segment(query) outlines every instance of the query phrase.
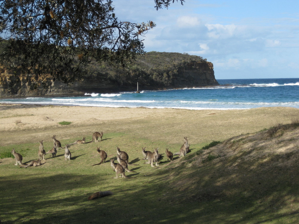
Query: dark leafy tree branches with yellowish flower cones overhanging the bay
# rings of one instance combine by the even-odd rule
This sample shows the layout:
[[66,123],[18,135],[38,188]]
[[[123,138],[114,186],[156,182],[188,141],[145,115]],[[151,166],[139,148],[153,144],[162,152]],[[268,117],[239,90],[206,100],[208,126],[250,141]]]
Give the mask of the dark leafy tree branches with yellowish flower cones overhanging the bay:
[[[184,2],[154,1],[157,10]],[[119,21],[112,0],[1,0],[0,65],[45,88],[49,76],[71,83],[93,62],[127,67],[155,26]]]

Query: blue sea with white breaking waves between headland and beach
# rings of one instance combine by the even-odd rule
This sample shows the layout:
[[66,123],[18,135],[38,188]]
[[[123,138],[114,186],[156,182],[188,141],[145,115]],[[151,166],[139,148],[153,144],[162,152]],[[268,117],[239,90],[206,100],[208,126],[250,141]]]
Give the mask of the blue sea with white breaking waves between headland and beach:
[[[202,109],[299,108],[299,78],[217,79],[219,86],[141,91],[85,93],[80,97],[0,99],[1,103]],[[142,88],[142,87],[141,87]]]

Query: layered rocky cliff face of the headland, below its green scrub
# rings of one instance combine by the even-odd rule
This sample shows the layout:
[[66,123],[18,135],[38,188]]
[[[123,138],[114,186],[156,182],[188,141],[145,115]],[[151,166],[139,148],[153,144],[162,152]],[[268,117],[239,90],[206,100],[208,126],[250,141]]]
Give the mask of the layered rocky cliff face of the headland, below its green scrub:
[[[159,53],[159,55],[162,56],[165,56],[165,54],[169,57],[172,53]],[[163,59],[165,59],[165,57]],[[169,58],[166,59],[166,61],[169,61]],[[143,62],[150,68],[144,68],[142,71],[140,71],[141,60],[139,60],[138,63],[135,65],[135,70],[136,67],[139,69],[137,75],[134,67],[132,67],[132,70],[126,75],[118,74],[113,77],[104,71],[100,75],[95,75],[94,73],[93,75],[87,74],[84,80],[74,82],[71,85],[66,85],[60,81],[53,81],[51,77],[47,77],[47,82],[51,83],[48,89],[44,89],[37,85],[38,81],[28,81],[28,77],[26,76],[2,69],[0,70],[0,97],[68,96],[83,95],[84,93],[92,92],[111,93],[118,91],[135,91],[137,81],[139,82],[139,90],[219,85],[214,76],[213,64],[205,60],[189,60],[188,62],[184,61],[184,63],[180,61],[176,64],[173,63],[173,67],[167,65],[167,68],[162,69],[161,65],[159,65],[160,67],[156,70],[155,65],[158,63],[153,62],[150,64],[148,62]],[[166,62],[163,63],[164,66]],[[114,73],[118,72],[119,71]],[[121,82],[120,77],[123,79]],[[131,80],[128,81],[128,79]],[[158,82],[157,80],[160,80],[161,82]]]

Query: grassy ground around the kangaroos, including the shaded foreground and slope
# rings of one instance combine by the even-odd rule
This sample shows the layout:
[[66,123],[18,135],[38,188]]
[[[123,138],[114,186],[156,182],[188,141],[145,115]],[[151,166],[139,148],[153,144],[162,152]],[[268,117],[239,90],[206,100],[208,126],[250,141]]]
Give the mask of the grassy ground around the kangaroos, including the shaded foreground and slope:
[[[252,117],[248,114],[254,112],[256,114],[256,111],[240,111],[243,120],[233,114],[226,120],[219,118],[222,123],[216,122],[215,115],[215,124],[210,122],[205,134],[201,127],[209,125],[202,122],[204,116],[196,120],[194,111],[181,115],[186,122],[181,126],[174,126],[180,123],[174,114],[161,115],[161,119],[101,121],[101,127],[109,125],[103,141],[71,146],[70,161],[65,161],[61,149],[57,157],[47,154],[39,167],[19,168],[13,165],[13,158],[0,159],[1,222],[298,223],[298,155],[296,150],[279,153],[279,147],[274,152],[274,146],[298,149],[299,130],[269,137],[266,131],[257,131],[268,129],[271,121],[249,125]],[[291,115],[296,114],[298,111]],[[159,116],[155,114],[156,118]],[[242,122],[236,123],[236,120]],[[44,140],[46,151],[52,148],[53,134],[63,146],[83,136],[86,141],[91,140],[92,132],[86,135],[82,131],[88,129],[87,125],[79,127],[70,121],[72,124],[63,127],[24,131],[21,141],[1,146],[0,154],[15,148],[27,163],[37,158],[38,140]],[[282,123],[287,121],[290,121],[289,116],[281,119]],[[275,123],[276,120],[272,121],[272,125]],[[94,130],[98,125],[89,128]],[[39,139],[33,139],[34,132]],[[254,132],[257,134],[251,134]],[[60,133],[64,134],[63,138]],[[240,136],[197,153],[213,140],[222,142],[237,135]],[[252,139],[255,135],[259,137]],[[150,151],[158,147],[159,153],[164,153],[165,148],[177,152],[184,143],[184,136],[188,136],[191,149],[186,157],[175,156],[173,162],[167,162],[164,154],[159,166],[144,164],[142,147]],[[248,145],[259,138],[263,142]],[[271,144],[272,149],[267,149]],[[115,172],[109,159],[116,158],[117,146],[128,153],[129,162],[138,164],[129,166],[136,173],[126,173],[136,179],[113,179]],[[108,157],[105,163],[91,166],[100,162],[97,147],[106,151]],[[292,161],[291,165],[286,165],[288,161]],[[113,195],[88,200],[88,196],[97,191],[112,191]]]

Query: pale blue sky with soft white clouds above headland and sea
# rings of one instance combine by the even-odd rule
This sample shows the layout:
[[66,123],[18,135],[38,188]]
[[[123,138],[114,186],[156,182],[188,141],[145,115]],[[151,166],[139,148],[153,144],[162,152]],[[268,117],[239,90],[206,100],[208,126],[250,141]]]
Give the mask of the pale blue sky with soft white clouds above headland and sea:
[[122,22],[153,21],[145,51],[201,56],[216,79],[299,78],[298,0],[114,0]]

